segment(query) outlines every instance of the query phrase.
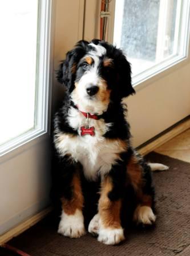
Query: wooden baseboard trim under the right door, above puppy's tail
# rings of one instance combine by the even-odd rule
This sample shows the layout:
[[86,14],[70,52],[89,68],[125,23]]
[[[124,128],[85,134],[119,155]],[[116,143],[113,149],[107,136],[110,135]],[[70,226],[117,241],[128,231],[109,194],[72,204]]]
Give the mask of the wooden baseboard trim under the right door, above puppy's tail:
[[142,155],[146,155],[189,128],[190,119],[188,118],[177,124],[175,127],[171,127],[171,129],[166,130],[160,136],[156,136],[156,138],[151,142],[147,142],[147,145],[138,147],[138,152]]

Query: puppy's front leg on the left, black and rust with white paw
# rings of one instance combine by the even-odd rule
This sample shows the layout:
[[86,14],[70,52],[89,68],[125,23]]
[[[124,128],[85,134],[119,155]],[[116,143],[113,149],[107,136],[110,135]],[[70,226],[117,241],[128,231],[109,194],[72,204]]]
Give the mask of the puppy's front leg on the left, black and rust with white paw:
[[69,158],[59,163],[59,186],[61,186],[62,214],[58,233],[70,238],[85,234],[82,214],[83,195],[78,166]]

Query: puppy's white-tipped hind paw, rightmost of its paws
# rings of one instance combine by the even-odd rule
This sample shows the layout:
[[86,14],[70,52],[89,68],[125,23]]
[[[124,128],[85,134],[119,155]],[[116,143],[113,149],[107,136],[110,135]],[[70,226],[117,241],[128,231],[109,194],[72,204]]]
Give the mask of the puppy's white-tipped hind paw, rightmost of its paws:
[[151,225],[156,221],[156,216],[153,214],[151,207],[138,206],[134,213],[134,221],[144,225]]

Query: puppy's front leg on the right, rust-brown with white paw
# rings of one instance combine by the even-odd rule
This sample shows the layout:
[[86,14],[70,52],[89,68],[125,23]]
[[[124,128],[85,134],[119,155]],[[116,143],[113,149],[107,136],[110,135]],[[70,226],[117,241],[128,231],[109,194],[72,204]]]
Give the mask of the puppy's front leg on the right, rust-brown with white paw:
[[[118,184],[119,185],[119,184]],[[122,184],[120,184],[122,186]],[[110,175],[102,181],[99,199],[98,241],[106,245],[115,245],[124,239],[120,221],[122,198],[118,186],[114,187],[114,179]]]

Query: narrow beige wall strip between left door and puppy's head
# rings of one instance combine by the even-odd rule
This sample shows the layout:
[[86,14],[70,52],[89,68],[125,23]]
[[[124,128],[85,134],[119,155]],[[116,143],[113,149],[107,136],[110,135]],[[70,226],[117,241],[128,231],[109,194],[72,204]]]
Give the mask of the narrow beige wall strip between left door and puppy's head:
[[[84,0],[56,0],[54,70],[65,59],[67,51],[83,37]],[[53,110],[62,99],[63,87],[56,82],[54,73]]]

